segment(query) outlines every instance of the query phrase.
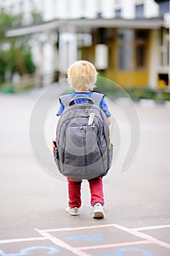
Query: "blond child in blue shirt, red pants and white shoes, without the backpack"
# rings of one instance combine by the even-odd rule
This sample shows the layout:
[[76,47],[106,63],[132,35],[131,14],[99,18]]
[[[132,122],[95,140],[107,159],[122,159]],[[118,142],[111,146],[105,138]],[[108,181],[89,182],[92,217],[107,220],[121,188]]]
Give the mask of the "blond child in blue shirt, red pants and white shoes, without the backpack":
[[[93,94],[93,88],[97,80],[96,68],[88,61],[76,61],[69,67],[68,70],[68,81],[74,92],[72,97],[77,94],[85,94],[90,97]],[[76,99],[77,103],[84,103],[87,99],[79,98]],[[104,110],[108,118],[108,123],[111,123],[111,115],[107,107],[107,103],[104,98],[101,99],[100,107]],[[61,103],[58,110],[57,116],[61,116],[64,106]],[[66,207],[66,212],[70,215],[79,215],[79,208],[81,206],[81,183],[82,181],[74,180],[73,178],[67,178],[68,189],[69,189],[69,206]],[[90,195],[91,195],[91,206],[93,206],[93,218],[102,219],[104,218],[104,192],[103,192],[103,181],[102,177],[89,180]]]

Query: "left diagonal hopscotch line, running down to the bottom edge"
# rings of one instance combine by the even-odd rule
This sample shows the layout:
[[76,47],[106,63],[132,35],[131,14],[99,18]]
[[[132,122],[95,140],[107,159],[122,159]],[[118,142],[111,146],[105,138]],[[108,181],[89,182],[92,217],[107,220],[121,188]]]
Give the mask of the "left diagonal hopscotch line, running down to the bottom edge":
[[69,244],[66,244],[62,240],[56,238],[55,236],[50,235],[49,233],[46,233],[45,231],[38,230],[36,228],[34,230],[36,230],[41,236],[44,236],[46,239],[49,239],[53,244],[55,244],[59,247],[62,247],[64,249],[74,253],[75,255],[78,255],[78,256],[92,256],[92,255],[89,255],[86,252],[82,252],[80,249],[77,249],[76,247],[72,247]]

